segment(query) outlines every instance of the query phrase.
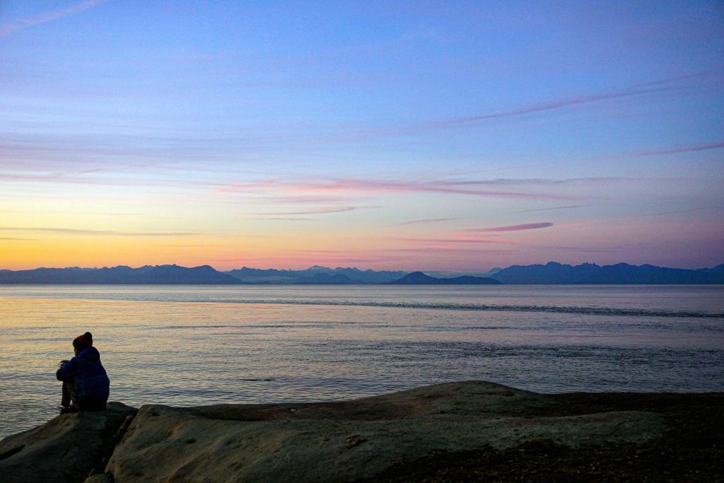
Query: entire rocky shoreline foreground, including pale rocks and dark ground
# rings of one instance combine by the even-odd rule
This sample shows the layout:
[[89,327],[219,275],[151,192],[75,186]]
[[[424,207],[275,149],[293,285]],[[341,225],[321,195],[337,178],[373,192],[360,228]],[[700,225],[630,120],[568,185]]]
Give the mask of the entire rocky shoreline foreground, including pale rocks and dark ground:
[[724,393],[489,382],[334,403],[110,403],[0,441],[0,481],[724,481]]

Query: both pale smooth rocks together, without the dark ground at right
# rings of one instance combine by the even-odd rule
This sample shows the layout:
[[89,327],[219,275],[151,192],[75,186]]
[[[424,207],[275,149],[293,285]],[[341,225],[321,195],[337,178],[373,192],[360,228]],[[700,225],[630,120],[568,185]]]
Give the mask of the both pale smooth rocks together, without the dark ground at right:
[[566,413],[554,395],[479,381],[334,403],[110,403],[0,441],[0,481],[352,482],[434,455],[635,446],[668,428],[660,413],[613,409]]

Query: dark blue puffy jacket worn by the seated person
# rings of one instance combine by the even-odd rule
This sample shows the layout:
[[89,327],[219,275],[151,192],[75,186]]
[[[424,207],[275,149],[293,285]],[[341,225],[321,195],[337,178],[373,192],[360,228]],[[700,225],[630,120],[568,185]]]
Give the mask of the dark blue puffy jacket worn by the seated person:
[[75,382],[78,397],[85,400],[107,400],[111,381],[101,364],[98,349],[83,349],[55,373],[59,381]]

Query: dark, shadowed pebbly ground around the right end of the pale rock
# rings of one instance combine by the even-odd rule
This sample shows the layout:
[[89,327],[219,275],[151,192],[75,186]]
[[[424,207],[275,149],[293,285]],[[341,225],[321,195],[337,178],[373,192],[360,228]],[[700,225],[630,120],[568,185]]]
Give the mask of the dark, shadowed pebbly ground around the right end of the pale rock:
[[572,392],[556,405],[519,416],[651,411],[665,417],[662,437],[640,445],[565,448],[526,442],[515,448],[430,455],[393,466],[371,482],[724,482],[724,392]]

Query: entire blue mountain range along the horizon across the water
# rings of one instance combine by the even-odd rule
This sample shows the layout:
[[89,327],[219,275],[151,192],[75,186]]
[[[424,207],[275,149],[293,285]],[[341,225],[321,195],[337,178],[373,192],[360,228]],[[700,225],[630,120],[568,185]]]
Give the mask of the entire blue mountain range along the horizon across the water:
[[724,284],[724,264],[709,269],[670,269],[653,265],[596,264],[513,265],[494,269],[487,277],[431,277],[422,272],[389,272],[356,268],[305,270],[242,269],[219,272],[209,265],[113,266],[101,269],[0,269],[0,284],[51,285],[703,285]]

